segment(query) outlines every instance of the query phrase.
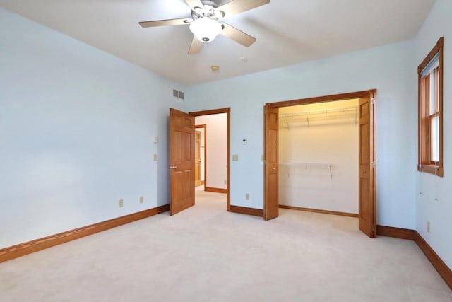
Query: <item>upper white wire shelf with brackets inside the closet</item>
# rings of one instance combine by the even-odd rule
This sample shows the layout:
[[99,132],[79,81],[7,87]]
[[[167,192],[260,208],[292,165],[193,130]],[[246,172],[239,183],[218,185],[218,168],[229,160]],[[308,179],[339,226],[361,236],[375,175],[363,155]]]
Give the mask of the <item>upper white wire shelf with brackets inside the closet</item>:
[[358,122],[358,106],[336,108],[336,109],[323,109],[323,110],[311,110],[304,112],[282,113],[279,115],[281,120],[285,120],[287,129],[290,129],[289,122],[296,120],[304,120],[310,127],[310,121],[315,119],[324,119],[332,117],[353,116],[355,117],[355,124]]

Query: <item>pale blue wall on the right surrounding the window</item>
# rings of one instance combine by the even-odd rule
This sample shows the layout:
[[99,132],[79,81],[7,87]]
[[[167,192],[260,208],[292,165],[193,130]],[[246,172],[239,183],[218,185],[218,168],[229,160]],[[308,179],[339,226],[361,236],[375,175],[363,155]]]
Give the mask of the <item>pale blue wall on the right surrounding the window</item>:
[[[444,178],[427,173],[417,173],[416,187],[416,230],[432,246],[435,252],[452,269],[452,1],[437,0],[427,20],[422,25],[415,41],[415,62],[417,65],[439,40],[444,37]],[[417,86],[417,79],[413,79]],[[417,105],[417,100],[412,100]],[[415,152],[415,150],[413,150]],[[411,165],[416,166],[417,161]],[[427,221],[430,233],[427,233]]]

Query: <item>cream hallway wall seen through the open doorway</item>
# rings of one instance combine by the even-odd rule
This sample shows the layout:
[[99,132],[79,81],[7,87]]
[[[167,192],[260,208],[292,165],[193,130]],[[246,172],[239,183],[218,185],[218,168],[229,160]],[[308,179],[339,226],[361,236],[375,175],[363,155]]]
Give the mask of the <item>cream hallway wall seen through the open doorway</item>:
[[195,124],[206,124],[206,187],[226,189],[227,185],[227,114],[202,115]]

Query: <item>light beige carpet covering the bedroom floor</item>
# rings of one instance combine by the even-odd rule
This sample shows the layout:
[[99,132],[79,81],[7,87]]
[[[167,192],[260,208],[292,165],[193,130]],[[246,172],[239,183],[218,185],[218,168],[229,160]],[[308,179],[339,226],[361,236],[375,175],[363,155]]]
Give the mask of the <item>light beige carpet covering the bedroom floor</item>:
[[226,211],[225,194],[0,263],[0,301],[437,301],[452,291],[410,240],[357,219]]

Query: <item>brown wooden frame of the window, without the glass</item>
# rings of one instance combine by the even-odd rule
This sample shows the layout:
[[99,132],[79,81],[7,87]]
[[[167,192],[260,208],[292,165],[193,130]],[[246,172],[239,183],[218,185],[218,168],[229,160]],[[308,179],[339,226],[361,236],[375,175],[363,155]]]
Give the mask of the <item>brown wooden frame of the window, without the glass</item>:
[[[417,86],[418,86],[418,162],[417,170],[420,172],[434,174],[439,177],[444,176],[443,168],[443,48],[444,37],[439,38],[433,49],[427,54],[427,57],[417,67]],[[429,89],[422,89],[422,81],[426,82],[427,76],[422,78],[422,70],[434,59],[436,54],[439,55],[439,72],[438,81],[438,108],[433,114],[429,114],[429,102],[427,95]],[[439,161],[432,161],[432,118],[439,117]]]

